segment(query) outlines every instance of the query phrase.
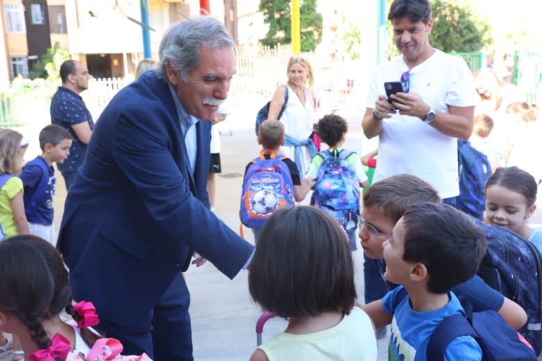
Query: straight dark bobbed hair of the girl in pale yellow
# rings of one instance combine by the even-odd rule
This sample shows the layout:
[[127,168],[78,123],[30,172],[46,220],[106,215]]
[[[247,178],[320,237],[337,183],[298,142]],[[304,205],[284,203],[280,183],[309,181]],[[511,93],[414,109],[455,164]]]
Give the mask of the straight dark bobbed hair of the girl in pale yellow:
[[356,287],[343,228],[314,207],[274,212],[256,246],[249,292],[263,309],[279,317],[350,313]]

